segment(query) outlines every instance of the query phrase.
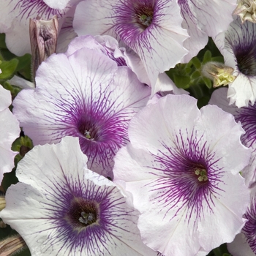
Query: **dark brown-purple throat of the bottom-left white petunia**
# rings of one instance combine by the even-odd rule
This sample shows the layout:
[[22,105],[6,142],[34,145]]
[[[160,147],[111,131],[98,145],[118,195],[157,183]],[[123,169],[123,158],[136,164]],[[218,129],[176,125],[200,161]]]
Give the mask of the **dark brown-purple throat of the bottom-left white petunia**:
[[99,207],[96,203],[75,197],[67,214],[67,221],[74,229],[81,229],[98,221]]

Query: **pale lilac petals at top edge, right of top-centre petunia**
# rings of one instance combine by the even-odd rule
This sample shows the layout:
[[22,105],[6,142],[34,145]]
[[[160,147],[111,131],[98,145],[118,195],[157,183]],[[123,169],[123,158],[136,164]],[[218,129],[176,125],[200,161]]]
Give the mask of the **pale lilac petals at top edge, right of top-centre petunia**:
[[227,29],[233,20],[236,0],[178,0],[178,4],[184,19],[182,27],[189,34],[184,42],[184,48],[189,52],[182,62],[189,62],[206,46],[208,37],[216,37]]

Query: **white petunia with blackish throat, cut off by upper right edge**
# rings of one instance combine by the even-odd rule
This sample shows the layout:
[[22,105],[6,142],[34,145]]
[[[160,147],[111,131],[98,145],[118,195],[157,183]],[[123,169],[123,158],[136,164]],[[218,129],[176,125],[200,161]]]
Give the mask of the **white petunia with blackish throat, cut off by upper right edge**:
[[225,33],[220,33],[214,42],[224,56],[225,65],[234,69],[236,80],[230,83],[227,98],[238,108],[254,105],[256,99],[256,24],[241,23],[236,18]]

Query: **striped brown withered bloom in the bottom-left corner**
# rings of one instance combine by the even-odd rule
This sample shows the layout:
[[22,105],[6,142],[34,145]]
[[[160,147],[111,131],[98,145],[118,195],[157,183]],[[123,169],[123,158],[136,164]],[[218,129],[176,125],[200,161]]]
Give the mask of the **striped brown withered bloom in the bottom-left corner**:
[[0,255],[9,256],[26,248],[26,243],[20,235],[0,241]]

